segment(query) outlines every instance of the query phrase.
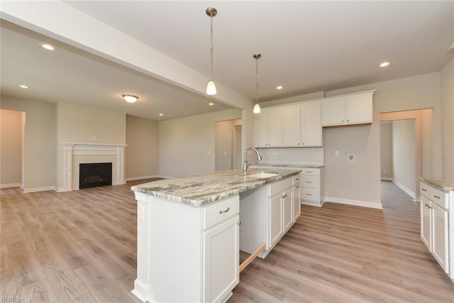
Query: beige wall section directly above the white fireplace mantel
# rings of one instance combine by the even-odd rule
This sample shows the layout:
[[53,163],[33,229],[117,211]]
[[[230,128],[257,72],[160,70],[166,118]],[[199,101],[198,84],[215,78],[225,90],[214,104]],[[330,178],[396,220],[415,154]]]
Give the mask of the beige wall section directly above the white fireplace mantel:
[[59,103],[57,130],[58,143],[126,144],[126,114]]

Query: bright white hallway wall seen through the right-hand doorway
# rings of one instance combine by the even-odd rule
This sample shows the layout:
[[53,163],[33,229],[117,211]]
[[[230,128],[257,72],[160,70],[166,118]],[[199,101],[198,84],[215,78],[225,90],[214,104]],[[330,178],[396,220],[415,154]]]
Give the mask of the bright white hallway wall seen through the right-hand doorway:
[[392,121],[392,167],[394,182],[416,197],[415,120]]

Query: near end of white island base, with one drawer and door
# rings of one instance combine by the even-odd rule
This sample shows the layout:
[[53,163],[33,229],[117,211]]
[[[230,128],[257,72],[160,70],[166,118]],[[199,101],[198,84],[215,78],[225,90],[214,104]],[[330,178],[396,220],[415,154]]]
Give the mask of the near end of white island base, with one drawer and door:
[[136,297],[225,302],[239,281],[239,197],[194,207],[135,192]]

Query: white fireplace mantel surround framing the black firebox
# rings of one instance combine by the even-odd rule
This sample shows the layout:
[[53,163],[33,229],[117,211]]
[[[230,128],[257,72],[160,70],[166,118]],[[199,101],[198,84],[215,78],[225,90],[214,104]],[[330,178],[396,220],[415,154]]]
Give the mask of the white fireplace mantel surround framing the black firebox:
[[60,142],[58,145],[57,192],[69,192],[73,189],[72,172],[73,169],[79,169],[78,167],[74,167],[74,155],[115,156],[116,160],[112,163],[112,170],[116,170],[116,173],[113,174],[112,184],[125,184],[124,150],[126,146],[124,144]]

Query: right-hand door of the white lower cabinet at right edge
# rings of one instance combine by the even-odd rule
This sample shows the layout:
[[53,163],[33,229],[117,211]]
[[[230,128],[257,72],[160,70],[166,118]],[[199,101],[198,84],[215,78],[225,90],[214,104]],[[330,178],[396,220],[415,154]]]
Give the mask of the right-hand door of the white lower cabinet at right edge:
[[435,203],[432,207],[432,254],[445,272],[448,268],[448,211]]

